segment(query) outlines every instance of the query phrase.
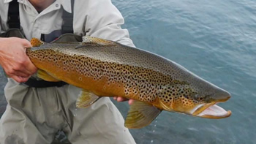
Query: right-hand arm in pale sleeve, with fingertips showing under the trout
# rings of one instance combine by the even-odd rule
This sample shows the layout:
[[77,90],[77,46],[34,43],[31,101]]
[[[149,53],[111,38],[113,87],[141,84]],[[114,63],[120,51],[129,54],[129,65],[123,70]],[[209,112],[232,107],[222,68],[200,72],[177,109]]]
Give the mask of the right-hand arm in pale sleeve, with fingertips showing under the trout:
[[[86,7],[84,27],[86,35],[135,47],[132,40],[129,39],[127,29],[121,29],[124,18],[110,0],[89,0],[86,6],[88,6]],[[114,99],[118,102],[128,100],[120,96],[114,97]],[[132,105],[132,102],[133,99],[129,99],[129,105]]]

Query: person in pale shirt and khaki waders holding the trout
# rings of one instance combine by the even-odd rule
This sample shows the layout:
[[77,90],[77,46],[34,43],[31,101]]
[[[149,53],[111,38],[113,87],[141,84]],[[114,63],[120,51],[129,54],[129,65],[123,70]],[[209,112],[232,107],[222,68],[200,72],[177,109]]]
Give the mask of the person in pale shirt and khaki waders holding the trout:
[[[10,7],[12,3],[17,6]],[[16,9],[19,17],[12,15]],[[63,15],[68,16],[65,19]],[[63,32],[69,20],[71,26],[66,27],[71,27],[73,34]],[[8,75],[4,88],[8,104],[0,119],[0,144],[52,143],[60,130],[74,144],[135,143],[108,97],[79,109],[75,102],[80,88],[40,80],[35,75],[37,67],[26,56],[32,37],[46,42],[59,37],[57,41],[66,42],[80,41],[87,35],[134,47],[128,31],[121,29],[123,23],[110,0],[0,1],[0,65]]]

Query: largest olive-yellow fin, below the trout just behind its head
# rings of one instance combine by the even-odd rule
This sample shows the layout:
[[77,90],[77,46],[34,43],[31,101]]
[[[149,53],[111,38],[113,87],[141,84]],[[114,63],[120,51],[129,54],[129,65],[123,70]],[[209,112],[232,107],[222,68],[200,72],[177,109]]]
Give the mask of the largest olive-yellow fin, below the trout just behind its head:
[[147,104],[146,102],[135,101],[127,115],[124,126],[129,129],[139,129],[148,126],[161,113],[157,107]]

